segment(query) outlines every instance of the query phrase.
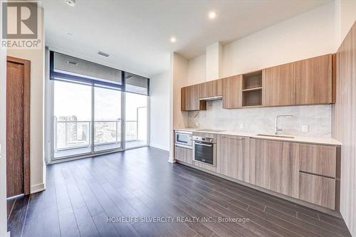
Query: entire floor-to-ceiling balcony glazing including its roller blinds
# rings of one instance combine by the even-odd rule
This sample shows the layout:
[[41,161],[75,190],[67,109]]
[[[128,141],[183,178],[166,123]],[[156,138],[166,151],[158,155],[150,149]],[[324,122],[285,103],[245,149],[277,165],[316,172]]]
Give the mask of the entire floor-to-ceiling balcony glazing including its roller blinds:
[[49,59],[52,160],[149,144],[148,78],[53,51]]

